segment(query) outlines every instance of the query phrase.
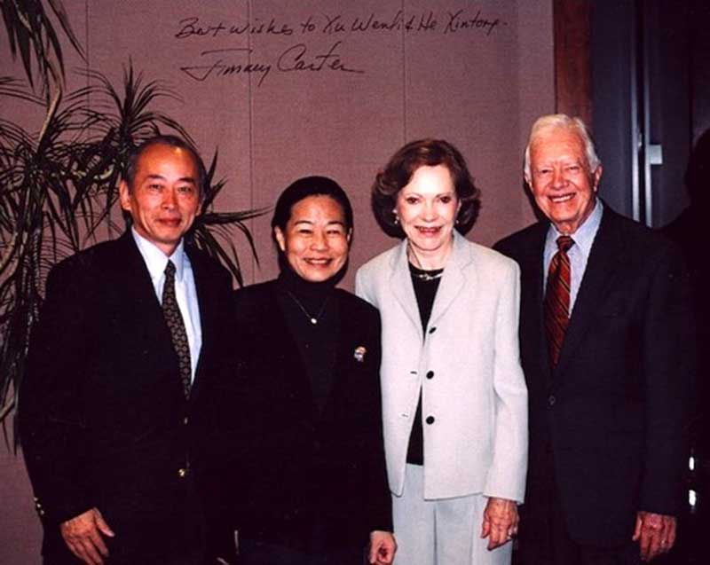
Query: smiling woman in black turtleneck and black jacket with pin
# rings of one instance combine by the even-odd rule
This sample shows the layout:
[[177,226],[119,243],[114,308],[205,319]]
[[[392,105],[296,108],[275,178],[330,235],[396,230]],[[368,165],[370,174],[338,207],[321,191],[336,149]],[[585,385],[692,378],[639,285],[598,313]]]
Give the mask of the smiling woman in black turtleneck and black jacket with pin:
[[389,564],[380,319],[335,287],[350,201],[331,179],[301,178],[281,193],[272,230],[278,279],[235,295],[240,562]]

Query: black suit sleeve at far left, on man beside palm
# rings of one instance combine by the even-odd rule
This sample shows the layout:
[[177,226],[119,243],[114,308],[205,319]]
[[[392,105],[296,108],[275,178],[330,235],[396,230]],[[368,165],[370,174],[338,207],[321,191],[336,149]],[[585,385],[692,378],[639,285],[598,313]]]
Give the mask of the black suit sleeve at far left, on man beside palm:
[[37,511],[50,523],[94,506],[83,454],[80,383],[90,330],[80,267],[65,262],[50,273],[20,388],[20,441]]

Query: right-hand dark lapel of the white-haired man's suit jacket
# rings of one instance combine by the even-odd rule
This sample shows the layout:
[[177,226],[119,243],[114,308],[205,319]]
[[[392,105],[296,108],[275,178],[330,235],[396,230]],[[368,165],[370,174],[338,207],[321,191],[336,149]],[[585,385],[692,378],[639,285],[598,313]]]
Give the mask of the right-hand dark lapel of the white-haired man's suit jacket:
[[613,283],[614,272],[619,264],[619,238],[615,225],[615,214],[609,207],[604,207],[604,216],[592,248],[589,252],[587,268],[580,285],[580,291],[574,302],[570,325],[564,336],[560,358],[555,373],[564,373],[564,368],[569,364],[574,355],[574,350],[587,333],[589,323],[594,318],[594,313],[599,304],[603,302],[604,295]]

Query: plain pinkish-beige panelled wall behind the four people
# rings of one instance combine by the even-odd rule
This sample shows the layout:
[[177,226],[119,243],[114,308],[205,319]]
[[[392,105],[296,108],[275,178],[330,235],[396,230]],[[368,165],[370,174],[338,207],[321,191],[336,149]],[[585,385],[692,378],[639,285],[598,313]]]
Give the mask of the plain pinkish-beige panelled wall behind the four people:
[[[549,0],[64,4],[91,68],[118,83],[131,58],[146,80],[167,82],[179,93],[182,101],[165,99],[160,109],[185,124],[206,159],[218,146],[217,176],[228,183],[217,208],[271,206],[304,175],[343,184],[356,221],[345,286],[359,264],[394,243],[369,211],[369,186],[391,153],[414,138],[445,137],[469,161],[484,203],[471,239],[491,244],[533,219],[520,162],[534,117],[554,109]],[[353,30],[371,16],[367,30]],[[462,27],[464,21],[472,27]],[[236,33],[247,22],[252,33]],[[78,66],[80,59],[66,51],[67,68]],[[314,67],[321,56],[333,57],[320,70],[288,70],[301,52]],[[355,72],[328,68],[335,55]],[[248,63],[270,70],[245,73]],[[21,75],[4,36],[0,75]],[[69,84],[83,79],[71,75]],[[0,116],[39,128],[39,114],[19,103],[0,100]],[[245,262],[248,282],[276,272],[268,224],[269,217],[250,224],[261,268]],[[243,240],[237,243],[246,258]],[[27,482],[19,462],[4,452],[0,489],[0,562],[38,561]]]

